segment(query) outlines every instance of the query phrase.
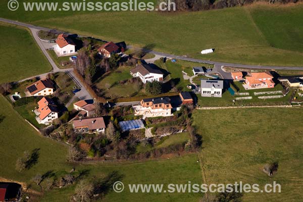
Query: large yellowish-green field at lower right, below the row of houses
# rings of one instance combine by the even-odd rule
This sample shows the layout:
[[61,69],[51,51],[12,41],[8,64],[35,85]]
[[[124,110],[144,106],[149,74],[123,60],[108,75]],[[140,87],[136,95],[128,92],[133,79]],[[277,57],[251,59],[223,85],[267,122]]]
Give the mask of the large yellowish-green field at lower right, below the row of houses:
[[[277,181],[282,193],[244,193],[243,201],[301,201],[303,113],[296,109],[201,110],[193,125],[203,136],[201,161],[207,183]],[[278,162],[269,177],[263,166]]]

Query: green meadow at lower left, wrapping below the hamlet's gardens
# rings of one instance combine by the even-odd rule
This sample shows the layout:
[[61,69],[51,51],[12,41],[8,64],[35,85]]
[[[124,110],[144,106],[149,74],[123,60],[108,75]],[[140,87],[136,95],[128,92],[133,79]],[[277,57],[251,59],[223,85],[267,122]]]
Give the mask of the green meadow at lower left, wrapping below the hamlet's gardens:
[[[12,179],[21,182],[30,183],[32,177],[36,174],[44,174],[52,171],[55,177],[60,177],[69,172],[73,167],[76,172],[86,170],[88,178],[93,176],[103,177],[112,171],[117,171],[122,175],[120,181],[123,183],[187,183],[192,181],[201,183],[200,166],[196,163],[197,155],[185,155],[167,159],[159,159],[146,162],[127,162],[127,163],[100,163],[96,165],[71,165],[66,162],[68,147],[63,143],[58,143],[52,139],[42,137],[21,118],[17,112],[10,106],[8,100],[0,97],[0,115],[3,120],[0,122],[0,153],[2,168],[0,177]],[[15,170],[17,158],[24,150],[33,150],[38,148],[38,163],[31,169],[19,173]],[[135,171],[135,172],[134,172]],[[42,182],[43,185],[43,182]],[[38,187],[32,186],[39,190]],[[45,192],[37,201],[68,201],[74,193],[74,186],[54,189]],[[102,201],[196,201],[199,194],[178,194],[162,193],[131,194],[128,191],[115,193],[110,191]]]

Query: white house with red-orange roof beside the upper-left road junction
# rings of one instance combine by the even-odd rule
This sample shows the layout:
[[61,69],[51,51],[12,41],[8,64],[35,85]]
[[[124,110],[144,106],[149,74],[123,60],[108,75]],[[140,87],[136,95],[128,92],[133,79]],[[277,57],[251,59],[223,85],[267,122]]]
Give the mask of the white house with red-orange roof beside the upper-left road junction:
[[76,44],[66,34],[58,35],[53,48],[58,57],[73,55],[76,52]]

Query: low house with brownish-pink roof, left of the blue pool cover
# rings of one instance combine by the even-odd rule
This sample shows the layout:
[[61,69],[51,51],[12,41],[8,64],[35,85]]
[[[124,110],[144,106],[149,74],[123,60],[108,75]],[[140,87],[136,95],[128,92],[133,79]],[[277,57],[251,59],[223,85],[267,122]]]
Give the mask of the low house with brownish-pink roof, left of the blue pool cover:
[[106,128],[103,117],[74,120],[73,127],[79,132],[98,133],[104,133]]

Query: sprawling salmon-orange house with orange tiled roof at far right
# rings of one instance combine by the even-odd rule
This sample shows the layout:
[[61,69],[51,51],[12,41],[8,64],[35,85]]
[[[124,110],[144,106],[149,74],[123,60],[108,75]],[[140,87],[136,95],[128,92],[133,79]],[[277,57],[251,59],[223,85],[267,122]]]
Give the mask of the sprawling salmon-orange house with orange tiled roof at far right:
[[273,88],[275,82],[273,76],[269,72],[255,72],[250,73],[250,76],[245,77],[244,88]]

